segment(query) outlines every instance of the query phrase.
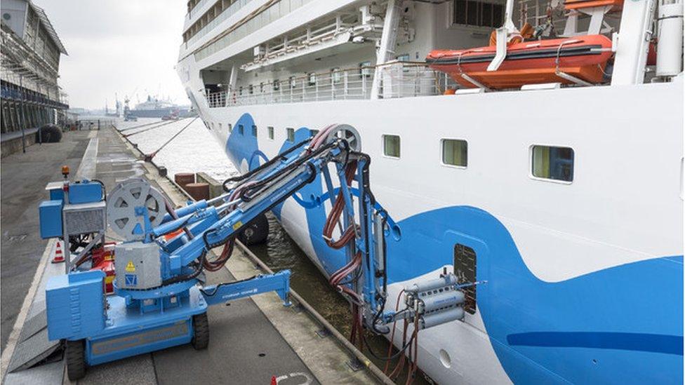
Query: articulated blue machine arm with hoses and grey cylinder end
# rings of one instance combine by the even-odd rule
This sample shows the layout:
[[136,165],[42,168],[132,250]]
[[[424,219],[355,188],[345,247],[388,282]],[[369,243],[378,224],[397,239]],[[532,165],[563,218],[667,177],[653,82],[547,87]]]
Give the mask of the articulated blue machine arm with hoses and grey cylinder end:
[[[213,217],[202,216],[201,213],[204,211],[201,210],[204,209],[201,209],[197,211],[198,217],[194,217],[194,222],[187,222],[191,216],[180,214],[184,219],[174,217],[175,222],[165,229],[176,231],[182,228],[185,231],[187,240],[183,242],[189,245],[178,248],[183,248],[182,252],[187,252],[186,260],[191,262],[187,265],[189,269],[184,270],[182,275],[170,278],[164,281],[164,284],[196,278],[205,269],[221,269],[230,259],[235,237],[242,227],[248,227],[257,215],[271,210],[297,194],[302,187],[314,182],[321,174],[322,182],[325,182],[328,190],[328,197],[331,198],[331,210],[326,215],[322,235],[329,247],[345,250],[346,258],[346,263],[331,274],[329,283],[350,302],[350,341],[357,344],[361,350],[366,346],[375,358],[386,360],[386,373],[390,370],[390,360],[399,358],[397,365],[390,372],[390,377],[396,377],[408,365],[407,383],[411,383],[418,370],[418,331],[459,319],[459,315],[463,315],[463,309],[457,308],[463,302],[463,294],[452,295],[460,286],[456,284],[457,278],[453,273],[444,271],[441,278],[415,284],[403,290],[397,298],[394,312],[385,311],[385,232],[387,227],[394,226],[394,223],[375,201],[371,192],[371,158],[361,152],[359,143],[359,133],[351,126],[327,126],[313,137],[294,144],[248,173],[225,180],[223,187],[226,194],[207,201],[203,206],[221,203],[216,208],[211,208],[215,210]],[[301,152],[295,154],[298,150]],[[340,182],[337,193],[331,175],[335,175]],[[237,185],[229,186],[234,183]],[[321,200],[323,196],[317,198],[319,204]],[[352,205],[356,206],[357,203],[359,210],[355,212]],[[173,212],[171,208],[168,208],[168,211]],[[214,222],[204,227],[201,233],[193,230],[196,234],[193,237],[188,227],[206,219]],[[334,239],[336,228],[339,229],[340,236]],[[199,241],[202,244],[198,243]],[[208,259],[207,252],[221,245],[223,248],[220,255],[215,259]],[[406,308],[398,311],[403,294]],[[441,307],[435,308],[436,297],[439,295],[448,298],[440,297]],[[367,341],[366,330],[371,330],[373,335],[385,335],[390,332],[392,323],[392,341],[399,320],[404,321],[399,351],[391,354],[391,345],[387,356],[375,353]]]

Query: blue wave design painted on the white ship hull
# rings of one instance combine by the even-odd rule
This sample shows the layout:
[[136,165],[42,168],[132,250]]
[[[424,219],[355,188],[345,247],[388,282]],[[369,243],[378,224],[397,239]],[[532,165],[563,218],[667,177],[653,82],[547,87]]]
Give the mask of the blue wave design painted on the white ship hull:
[[[251,130],[244,114],[236,123]],[[295,131],[294,142],[310,130]],[[235,164],[258,167],[263,154],[256,137],[233,130],[227,154]],[[297,151],[292,154],[297,156]],[[372,180],[373,182],[373,180]],[[321,238],[321,179],[295,198],[306,209],[307,229],[317,258],[328,273],[345,263],[342,250]],[[282,205],[274,208],[281,216]],[[516,383],[620,383],[683,381],[683,256],[613,266],[548,283],[528,270],[505,226],[470,206],[421,212],[398,222],[401,236],[387,238],[388,278],[406,281],[453,264],[461,243],[477,255],[478,309],[493,349]],[[554,263],[554,250],[550,250]],[[457,343],[457,342],[454,342]]]

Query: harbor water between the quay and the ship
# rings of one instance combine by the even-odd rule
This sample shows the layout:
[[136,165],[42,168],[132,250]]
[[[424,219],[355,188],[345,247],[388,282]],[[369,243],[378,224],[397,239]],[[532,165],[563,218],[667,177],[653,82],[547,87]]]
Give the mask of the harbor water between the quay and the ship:
[[[136,122],[120,122],[119,129],[152,123],[159,119],[138,119]],[[149,130],[129,137],[131,142],[138,144],[138,148],[145,154],[159,149],[169,138],[178,133],[192,119],[182,119],[159,129]],[[140,130],[144,130],[141,128]],[[136,132],[137,130],[131,130]],[[129,132],[125,132],[129,133]],[[201,149],[201,150],[199,150]],[[169,175],[176,173],[204,172],[215,180],[223,181],[228,177],[238,175],[238,171],[225,155],[220,144],[200,119],[196,119],[178,137],[169,143],[154,158],[155,163],[164,166]],[[314,306],[321,316],[324,316],[342,335],[350,335],[350,309],[341,295],[335,292],[328,280],[317,269],[298,245],[281,228],[273,215],[269,219],[269,236],[262,245],[253,245],[250,250],[255,253],[272,270],[291,269],[291,287],[298,292],[309,304]],[[398,332],[401,330],[397,324]],[[368,343],[376,355],[384,357],[389,343],[383,337],[370,336]],[[385,360],[375,358],[364,349],[366,356],[381,370],[385,367]],[[390,368],[397,360],[392,360]],[[404,383],[404,373],[397,383]],[[429,380],[418,373],[413,384],[430,384]]]

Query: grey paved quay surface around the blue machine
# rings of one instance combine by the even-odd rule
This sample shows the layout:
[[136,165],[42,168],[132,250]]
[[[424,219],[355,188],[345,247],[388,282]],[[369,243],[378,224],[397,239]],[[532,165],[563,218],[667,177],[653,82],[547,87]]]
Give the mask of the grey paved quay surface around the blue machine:
[[[44,255],[47,243],[39,239],[37,208],[46,198],[45,184],[62,179],[62,164],[70,166],[72,179],[79,173],[82,177],[101,180],[108,190],[128,177],[142,176],[173,202],[185,199],[178,191],[174,193],[170,181],[153,175],[152,166],[138,160],[130,145],[112,128],[67,133],[59,144],[44,144],[43,148],[32,146],[27,154],[4,158],[3,349],[8,348],[8,335],[13,331],[15,319],[36,275],[36,267],[43,266],[41,255]],[[19,238],[9,238],[11,236]],[[25,238],[20,239],[21,236]],[[234,270],[208,273],[208,283],[234,281],[258,272],[240,252],[236,254],[230,261]],[[46,276],[55,271],[60,273],[58,266],[63,269],[61,264],[46,264],[41,281],[46,281]],[[40,289],[33,291],[37,294],[29,302],[32,303],[27,311],[29,314],[36,313],[34,308],[39,306],[42,294]],[[364,370],[350,370],[346,362],[351,356],[331,338],[318,337],[316,331],[320,326],[297,308],[281,306],[274,293],[260,295],[254,301],[242,299],[212,306],[208,316],[211,335],[208,349],[195,351],[189,345],[176,346],[89,367],[79,384],[269,384],[274,375],[279,377],[281,385],[368,384],[373,381]],[[21,329],[22,325],[18,327]],[[14,342],[11,340],[9,344]],[[5,354],[3,358],[5,360]],[[3,380],[6,384],[69,382],[59,358],[48,365],[6,374]]]

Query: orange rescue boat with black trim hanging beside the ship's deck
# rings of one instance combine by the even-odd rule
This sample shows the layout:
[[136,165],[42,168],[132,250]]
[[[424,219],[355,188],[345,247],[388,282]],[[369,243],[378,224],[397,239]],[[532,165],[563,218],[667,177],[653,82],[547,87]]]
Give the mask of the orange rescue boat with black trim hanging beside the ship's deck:
[[426,62],[467,88],[477,85],[463,74],[488,88],[501,89],[525,84],[573,83],[568,77],[559,76],[559,72],[589,83],[600,83],[606,62],[613,55],[611,40],[604,35],[514,43],[507,46],[507,56],[500,67],[488,71],[495,54],[495,46],[433,50]]

